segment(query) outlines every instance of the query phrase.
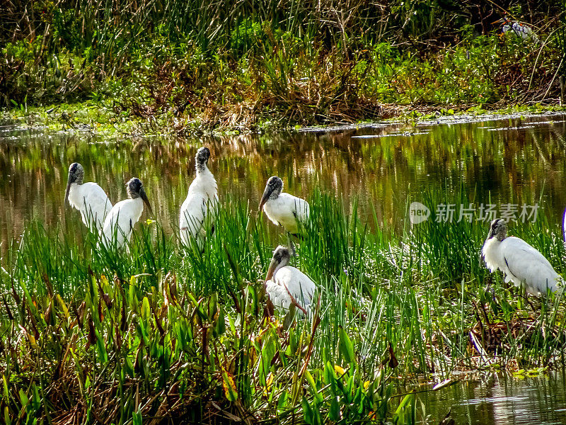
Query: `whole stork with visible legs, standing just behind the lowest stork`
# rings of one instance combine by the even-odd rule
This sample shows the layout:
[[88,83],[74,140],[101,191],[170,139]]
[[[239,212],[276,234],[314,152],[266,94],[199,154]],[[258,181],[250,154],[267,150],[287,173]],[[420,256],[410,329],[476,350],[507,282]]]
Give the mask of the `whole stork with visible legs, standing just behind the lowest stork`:
[[[310,207],[306,200],[284,193],[282,190],[283,181],[277,176],[270,177],[260,200],[260,211],[263,209],[267,218],[287,230],[287,236],[289,234],[298,236],[299,222],[306,223],[311,213]],[[291,237],[289,237],[289,245],[294,254]]]

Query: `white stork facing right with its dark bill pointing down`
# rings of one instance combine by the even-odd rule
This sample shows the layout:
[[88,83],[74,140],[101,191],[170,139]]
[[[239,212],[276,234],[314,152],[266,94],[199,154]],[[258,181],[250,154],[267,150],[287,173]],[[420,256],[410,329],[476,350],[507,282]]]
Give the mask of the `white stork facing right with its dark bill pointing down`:
[[141,217],[141,212],[144,211],[144,203],[153,214],[144,186],[137,177],[130,179],[126,188],[129,199],[120,200],[114,205],[104,220],[102,241],[107,249],[114,246],[122,248],[126,242],[129,242],[132,229]]

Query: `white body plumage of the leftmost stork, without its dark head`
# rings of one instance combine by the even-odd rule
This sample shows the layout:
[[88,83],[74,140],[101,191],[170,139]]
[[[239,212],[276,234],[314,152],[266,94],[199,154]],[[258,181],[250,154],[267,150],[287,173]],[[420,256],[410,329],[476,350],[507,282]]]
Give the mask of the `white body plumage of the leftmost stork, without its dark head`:
[[100,232],[112,203],[103,188],[97,183],[71,183],[69,188],[69,204],[81,212],[83,223],[91,232]]

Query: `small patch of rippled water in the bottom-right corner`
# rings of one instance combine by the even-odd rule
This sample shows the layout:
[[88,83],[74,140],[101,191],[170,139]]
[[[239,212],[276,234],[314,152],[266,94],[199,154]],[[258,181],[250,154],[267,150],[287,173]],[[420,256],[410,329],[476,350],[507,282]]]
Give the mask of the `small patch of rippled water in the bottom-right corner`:
[[437,425],[451,409],[456,425],[566,424],[565,388],[564,371],[536,378],[488,374],[420,393],[424,412],[417,402],[417,418]]

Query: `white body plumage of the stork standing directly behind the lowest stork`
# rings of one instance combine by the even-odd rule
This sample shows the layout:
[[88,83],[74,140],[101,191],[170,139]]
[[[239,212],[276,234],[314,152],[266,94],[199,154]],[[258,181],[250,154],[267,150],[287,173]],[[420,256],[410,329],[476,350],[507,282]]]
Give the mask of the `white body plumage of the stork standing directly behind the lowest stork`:
[[277,198],[268,199],[263,205],[263,211],[275,225],[282,225],[289,233],[297,233],[298,222],[306,222],[311,212],[306,200],[289,193],[280,193]]

